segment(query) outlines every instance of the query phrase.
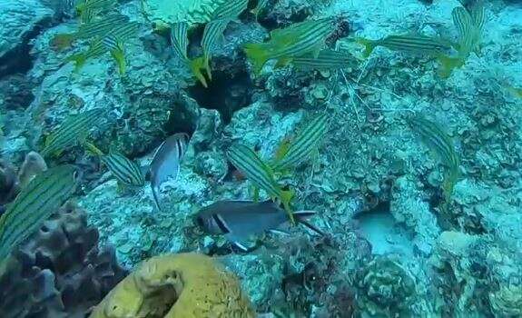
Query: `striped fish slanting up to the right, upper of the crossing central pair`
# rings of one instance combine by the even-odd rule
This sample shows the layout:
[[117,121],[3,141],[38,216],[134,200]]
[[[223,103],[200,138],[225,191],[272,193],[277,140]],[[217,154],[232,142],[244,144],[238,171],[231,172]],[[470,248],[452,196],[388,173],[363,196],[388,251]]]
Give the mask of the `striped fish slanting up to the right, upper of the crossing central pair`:
[[[296,167],[317,149],[328,131],[328,116],[320,114],[313,118],[298,134],[295,140],[285,141],[280,147],[276,160],[271,164],[275,171],[284,171]],[[281,151],[281,149],[284,149]]]

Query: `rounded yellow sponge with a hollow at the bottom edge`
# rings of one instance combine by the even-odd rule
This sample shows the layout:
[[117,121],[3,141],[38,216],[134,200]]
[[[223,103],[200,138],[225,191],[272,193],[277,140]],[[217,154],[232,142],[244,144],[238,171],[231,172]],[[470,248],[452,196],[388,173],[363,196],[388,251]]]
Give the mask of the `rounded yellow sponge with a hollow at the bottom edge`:
[[238,279],[198,253],[155,256],[119,283],[91,318],[254,317]]

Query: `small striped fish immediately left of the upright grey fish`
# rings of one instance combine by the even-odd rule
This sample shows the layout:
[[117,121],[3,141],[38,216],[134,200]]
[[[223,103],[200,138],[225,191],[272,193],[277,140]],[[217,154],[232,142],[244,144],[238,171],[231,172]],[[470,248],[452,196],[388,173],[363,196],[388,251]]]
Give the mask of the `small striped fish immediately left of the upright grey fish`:
[[99,155],[103,164],[111,171],[120,184],[127,186],[143,186],[145,177],[142,169],[132,160],[115,151],[103,154],[94,144],[85,143],[85,147],[93,154]]

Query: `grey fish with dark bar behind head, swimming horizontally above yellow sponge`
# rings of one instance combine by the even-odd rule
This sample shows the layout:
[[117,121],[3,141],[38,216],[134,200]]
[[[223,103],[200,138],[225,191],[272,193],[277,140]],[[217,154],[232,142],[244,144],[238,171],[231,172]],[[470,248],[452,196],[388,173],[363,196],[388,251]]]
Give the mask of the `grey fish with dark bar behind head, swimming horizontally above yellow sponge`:
[[[314,232],[324,235],[305,219],[315,215],[315,211],[298,211],[293,213],[298,223],[308,226]],[[208,234],[224,235],[241,250],[250,249],[243,243],[251,235],[275,231],[281,224],[289,221],[284,209],[272,202],[253,201],[219,201],[203,207],[195,217],[196,223]]]

